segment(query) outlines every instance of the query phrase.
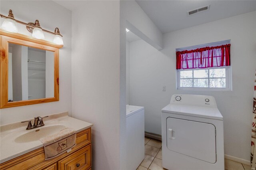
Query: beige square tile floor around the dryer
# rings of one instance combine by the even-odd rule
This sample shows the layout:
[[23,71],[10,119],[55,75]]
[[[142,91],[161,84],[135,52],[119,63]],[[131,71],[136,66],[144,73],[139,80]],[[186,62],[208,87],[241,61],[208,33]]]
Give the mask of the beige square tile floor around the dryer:
[[[137,170],[166,170],[162,167],[162,142],[145,137],[145,158]],[[225,170],[251,170],[251,167],[225,159]]]

